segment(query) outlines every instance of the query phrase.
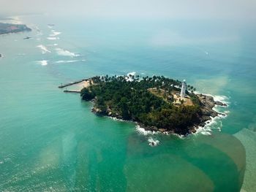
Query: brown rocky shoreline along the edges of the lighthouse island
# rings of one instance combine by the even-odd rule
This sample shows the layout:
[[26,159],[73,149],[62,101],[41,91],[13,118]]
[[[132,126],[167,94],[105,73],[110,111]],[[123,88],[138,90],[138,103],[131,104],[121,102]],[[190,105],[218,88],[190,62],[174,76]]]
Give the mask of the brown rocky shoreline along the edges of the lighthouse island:
[[[215,118],[219,115],[225,115],[220,112],[217,112],[214,110],[215,106],[221,106],[221,107],[227,107],[227,104],[222,103],[221,101],[214,101],[213,96],[207,96],[203,94],[197,94],[198,98],[200,99],[201,102],[201,115],[200,115],[200,123],[197,123],[193,125],[191,128],[189,128],[189,133],[188,134],[194,134],[197,131],[197,128],[206,126],[206,122],[208,120],[211,120],[212,118]],[[92,100],[94,102],[95,99]],[[94,112],[96,115],[100,116],[107,116],[110,118],[116,118],[118,120],[123,120],[121,118],[121,115],[116,115],[113,114],[109,109],[108,113],[102,112],[97,107],[92,107],[91,112]],[[155,126],[145,126],[143,123],[136,122],[138,126],[141,128],[144,128],[146,131],[160,131],[162,133],[167,133],[167,134],[176,134],[174,131],[167,131],[165,128],[157,128]]]

